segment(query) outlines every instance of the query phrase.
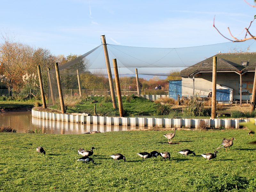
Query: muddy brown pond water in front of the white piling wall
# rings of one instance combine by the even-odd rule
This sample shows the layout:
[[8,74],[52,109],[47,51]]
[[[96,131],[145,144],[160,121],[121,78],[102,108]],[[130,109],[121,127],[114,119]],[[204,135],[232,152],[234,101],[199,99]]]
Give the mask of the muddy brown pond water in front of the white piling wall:
[[[71,122],[60,122],[46,119],[34,118],[31,111],[0,113],[0,126],[10,126],[17,132],[25,133],[26,130],[42,130],[43,133],[52,134],[83,134],[90,131],[113,132],[139,130],[139,127],[100,125],[100,124],[81,124]],[[147,127],[146,127],[147,128]],[[144,128],[145,129],[145,128]]]

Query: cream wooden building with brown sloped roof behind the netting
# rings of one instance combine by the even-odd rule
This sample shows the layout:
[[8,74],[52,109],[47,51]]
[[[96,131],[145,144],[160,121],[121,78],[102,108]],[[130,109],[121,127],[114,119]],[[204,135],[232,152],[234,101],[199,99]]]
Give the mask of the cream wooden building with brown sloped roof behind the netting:
[[[256,67],[256,52],[217,55],[217,100],[250,100]],[[212,57],[180,72],[182,96],[207,97],[212,89]],[[242,86],[240,86],[242,84]]]

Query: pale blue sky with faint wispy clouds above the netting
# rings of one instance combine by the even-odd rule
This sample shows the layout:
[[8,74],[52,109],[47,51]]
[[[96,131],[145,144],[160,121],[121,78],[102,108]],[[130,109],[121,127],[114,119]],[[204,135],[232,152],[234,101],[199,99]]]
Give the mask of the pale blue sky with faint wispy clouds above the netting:
[[234,36],[239,35],[256,10],[242,0],[13,0],[2,1],[1,7],[2,33],[21,43],[47,48],[55,55],[84,54],[101,44],[101,35],[108,44],[137,47],[228,42],[212,27],[214,15],[215,25],[230,37],[227,27]]

